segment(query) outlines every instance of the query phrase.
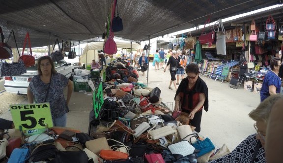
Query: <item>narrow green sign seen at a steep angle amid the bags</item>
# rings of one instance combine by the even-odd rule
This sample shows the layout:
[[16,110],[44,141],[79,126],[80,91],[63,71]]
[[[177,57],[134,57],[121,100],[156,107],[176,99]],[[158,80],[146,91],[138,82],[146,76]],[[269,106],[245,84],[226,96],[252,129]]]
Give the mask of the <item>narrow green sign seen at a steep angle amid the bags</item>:
[[95,118],[97,119],[97,117],[99,115],[99,111],[100,111],[100,109],[101,109],[101,107],[104,103],[102,82],[100,82],[98,88],[96,88],[93,91],[92,100],[93,100],[93,109],[94,109]]

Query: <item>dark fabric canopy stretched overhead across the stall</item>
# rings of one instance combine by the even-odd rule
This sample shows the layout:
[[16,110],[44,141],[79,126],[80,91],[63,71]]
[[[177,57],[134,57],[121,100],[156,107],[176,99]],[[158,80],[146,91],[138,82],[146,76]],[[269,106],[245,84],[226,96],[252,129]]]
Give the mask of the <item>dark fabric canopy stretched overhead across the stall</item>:
[[[236,14],[279,4],[280,0],[118,0],[124,29],[114,33],[142,41]],[[0,0],[0,26],[5,37],[13,29],[19,47],[29,32],[32,47],[58,39],[102,39],[111,0]],[[51,35],[51,40],[50,36]],[[9,45],[15,47],[11,38]]]

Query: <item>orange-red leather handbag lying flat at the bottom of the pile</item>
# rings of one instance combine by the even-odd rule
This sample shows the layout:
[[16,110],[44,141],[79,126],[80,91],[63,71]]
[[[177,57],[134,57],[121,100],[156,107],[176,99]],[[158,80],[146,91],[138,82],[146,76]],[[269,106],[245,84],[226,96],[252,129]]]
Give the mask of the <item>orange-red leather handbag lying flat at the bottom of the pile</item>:
[[118,160],[118,159],[127,159],[129,157],[128,154],[119,151],[112,150],[101,150],[99,156],[104,160]]

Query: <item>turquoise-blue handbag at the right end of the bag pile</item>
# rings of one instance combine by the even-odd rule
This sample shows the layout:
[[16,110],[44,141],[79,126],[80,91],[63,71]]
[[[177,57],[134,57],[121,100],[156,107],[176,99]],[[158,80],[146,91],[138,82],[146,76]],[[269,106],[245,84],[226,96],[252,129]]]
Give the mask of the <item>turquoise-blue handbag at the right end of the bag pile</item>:
[[209,138],[205,138],[204,140],[197,139],[196,143],[192,144],[197,150],[199,150],[199,153],[197,153],[197,157],[200,157],[212,150],[215,149],[213,143]]

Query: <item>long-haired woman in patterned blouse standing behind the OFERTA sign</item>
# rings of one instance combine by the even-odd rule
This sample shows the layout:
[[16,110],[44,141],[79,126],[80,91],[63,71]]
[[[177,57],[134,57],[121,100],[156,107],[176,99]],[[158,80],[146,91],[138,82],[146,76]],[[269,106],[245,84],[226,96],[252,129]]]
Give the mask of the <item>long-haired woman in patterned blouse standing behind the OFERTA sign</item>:
[[[73,82],[64,75],[57,73],[55,65],[49,56],[37,60],[38,75],[35,75],[28,85],[28,102],[49,102],[54,126],[65,127],[68,103],[73,92]],[[68,87],[67,100],[63,89]]]

